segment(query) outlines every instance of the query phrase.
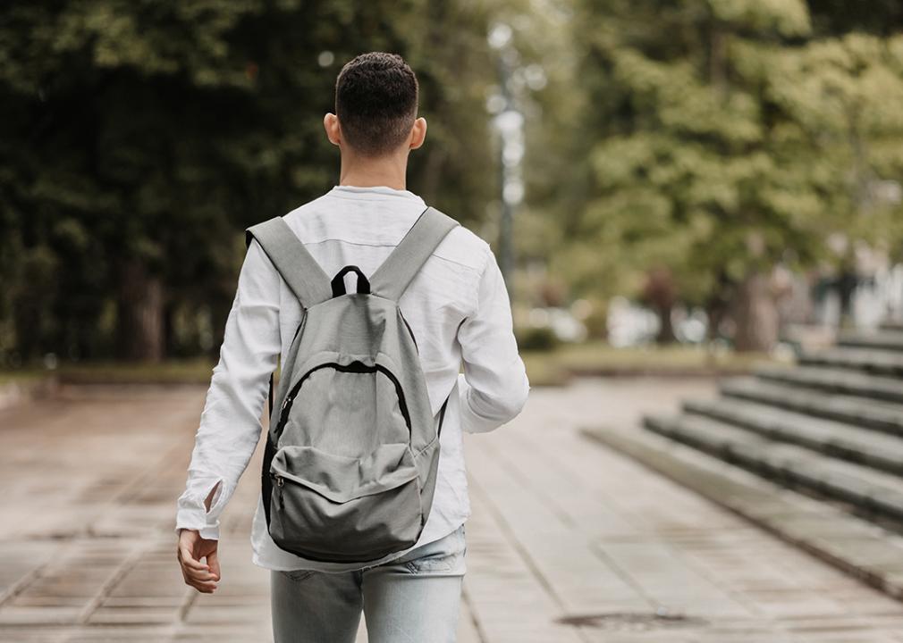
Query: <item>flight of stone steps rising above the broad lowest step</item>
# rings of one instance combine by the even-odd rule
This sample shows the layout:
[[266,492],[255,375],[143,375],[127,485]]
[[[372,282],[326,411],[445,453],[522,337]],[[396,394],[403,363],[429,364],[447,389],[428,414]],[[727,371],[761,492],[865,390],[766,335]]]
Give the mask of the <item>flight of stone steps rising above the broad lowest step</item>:
[[903,329],[842,335],[794,368],[723,381],[655,433],[903,531]]

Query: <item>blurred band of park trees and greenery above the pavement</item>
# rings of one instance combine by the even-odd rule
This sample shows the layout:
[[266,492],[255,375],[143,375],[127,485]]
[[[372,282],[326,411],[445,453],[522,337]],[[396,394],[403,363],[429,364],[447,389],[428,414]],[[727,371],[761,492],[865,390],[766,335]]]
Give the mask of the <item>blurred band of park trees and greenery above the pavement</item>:
[[894,0],[9,3],[0,366],[209,377],[243,228],[338,182],[321,118],[375,50],[420,80],[408,188],[493,244],[537,383],[877,326],[901,30]]

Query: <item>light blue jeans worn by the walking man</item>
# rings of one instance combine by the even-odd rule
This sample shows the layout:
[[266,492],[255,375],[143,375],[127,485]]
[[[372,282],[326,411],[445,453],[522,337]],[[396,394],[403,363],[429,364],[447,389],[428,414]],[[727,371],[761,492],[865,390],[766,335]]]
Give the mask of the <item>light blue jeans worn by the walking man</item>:
[[464,526],[354,572],[272,572],[275,643],[454,643],[466,566]]

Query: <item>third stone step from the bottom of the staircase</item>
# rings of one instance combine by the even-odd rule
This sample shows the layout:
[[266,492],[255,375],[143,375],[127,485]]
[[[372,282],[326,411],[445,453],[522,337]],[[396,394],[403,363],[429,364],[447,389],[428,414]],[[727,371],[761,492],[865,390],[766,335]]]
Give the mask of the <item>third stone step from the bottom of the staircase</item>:
[[731,398],[687,401],[684,411],[717,419],[771,440],[805,446],[846,462],[903,475],[903,439],[896,436]]

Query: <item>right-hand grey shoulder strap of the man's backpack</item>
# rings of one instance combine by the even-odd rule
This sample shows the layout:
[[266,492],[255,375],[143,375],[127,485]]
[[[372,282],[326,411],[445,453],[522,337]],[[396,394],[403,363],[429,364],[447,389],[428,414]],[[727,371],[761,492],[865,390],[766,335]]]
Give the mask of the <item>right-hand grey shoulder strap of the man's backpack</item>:
[[434,207],[427,207],[395,250],[373,273],[370,290],[386,299],[401,299],[414,275],[456,225],[458,222],[451,216],[443,215]]

